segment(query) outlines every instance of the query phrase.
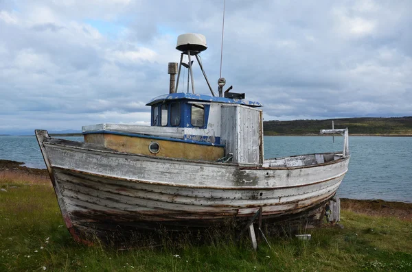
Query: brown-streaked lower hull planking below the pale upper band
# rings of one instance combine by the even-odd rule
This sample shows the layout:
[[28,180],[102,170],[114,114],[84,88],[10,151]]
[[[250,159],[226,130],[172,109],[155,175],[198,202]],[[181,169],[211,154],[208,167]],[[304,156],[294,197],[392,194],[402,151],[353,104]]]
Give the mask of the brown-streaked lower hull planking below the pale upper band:
[[[181,190],[179,196],[167,193],[148,193],[146,190],[128,189],[117,186],[117,180],[103,179],[104,184],[92,182],[93,175],[71,173],[67,170],[57,170],[56,178],[60,190],[66,199],[67,210],[71,214],[71,221],[81,219],[76,214],[95,210],[102,214],[127,214],[132,221],[183,221],[181,225],[190,227],[190,219],[211,220],[227,219],[229,217],[250,217],[259,207],[263,209],[264,218],[285,216],[303,210],[309,210],[322,201],[330,199],[336,193],[341,178],[324,184],[321,190],[312,188],[305,194],[291,195],[273,199],[253,199],[251,195],[244,195],[243,199],[207,199],[202,195],[186,195],[189,192]],[[96,179],[96,177],[94,177]],[[110,185],[108,185],[110,184]],[[147,185],[147,184],[146,184]],[[138,187],[139,184],[137,183]],[[167,192],[168,188],[158,187],[157,190]],[[163,186],[165,187],[165,186]],[[201,191],[208,195],[207,189]],[[282,192],[279,191],[282,195]],[[252,198],[251,198],[252,197]],[[244,202],[244,203],[242,203]],[[152,218],[153,217],[153,218]]]

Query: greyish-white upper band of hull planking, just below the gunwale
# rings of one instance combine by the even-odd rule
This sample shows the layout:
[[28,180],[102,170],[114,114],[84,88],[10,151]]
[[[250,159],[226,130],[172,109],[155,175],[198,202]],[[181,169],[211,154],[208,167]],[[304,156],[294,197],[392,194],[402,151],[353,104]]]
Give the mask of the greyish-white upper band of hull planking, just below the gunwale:
[[[79,144],[77,144],[79,145]],[[76,169],[108,177],[123,177],[141,182],[157,182],[177,186],[207,188],[249,187],[263,190],[279,186],[302,186],[343,175],[348,158],[318,166],[296,168],[242,167],[217,162],[194,162],[152,158],[114,151],[87,151],[81,147],[65,147],[45,143],[49,160],[55,167]]]

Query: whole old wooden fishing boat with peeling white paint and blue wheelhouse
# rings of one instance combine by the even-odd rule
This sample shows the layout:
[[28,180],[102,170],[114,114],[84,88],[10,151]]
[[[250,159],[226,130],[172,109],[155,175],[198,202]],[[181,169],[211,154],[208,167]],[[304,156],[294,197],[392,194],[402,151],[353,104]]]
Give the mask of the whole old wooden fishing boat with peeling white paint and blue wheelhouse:
[[[191,57],[199,60],[205,37],[181,35],[176,48],[179,69],[169,64],[170,92],[148,103],[150,126],[85,126],[84,143],[36,130],[73,238],[203,228],[245,221],[260,208],[266,222],[320,219],[347,172],[347,129],[321,131],[343,134],[343,151],[264,160],[262,105],[223,92],[224,79],[215,95],[200,61],[211,95],[194,93]],[[176,92],[182,66],[192,93],[189,85]]]

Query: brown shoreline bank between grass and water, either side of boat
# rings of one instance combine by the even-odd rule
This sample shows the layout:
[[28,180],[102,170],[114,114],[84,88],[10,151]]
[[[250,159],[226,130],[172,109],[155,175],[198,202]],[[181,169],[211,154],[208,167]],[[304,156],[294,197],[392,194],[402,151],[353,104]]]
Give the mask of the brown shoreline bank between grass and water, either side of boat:
[[[0,160],[0,179],[29,180],[30,183],[49,183],[46,169],[22,166],[23,162]],[[376,200],[341,199],[341,208],[374,216],[392,216],[412,220],[412,203]]]

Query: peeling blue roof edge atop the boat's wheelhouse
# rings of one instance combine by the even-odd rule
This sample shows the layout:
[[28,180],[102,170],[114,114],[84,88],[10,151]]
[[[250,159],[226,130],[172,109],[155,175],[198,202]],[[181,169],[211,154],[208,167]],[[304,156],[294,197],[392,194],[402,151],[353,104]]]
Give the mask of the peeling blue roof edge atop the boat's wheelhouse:
[[251,106],[251,107],[262,107],[261,103],[255,102],[255,101],[242,100],[242,99],[231,99],[231,98],[225,98],[225,97],[211,97],[210,95],[198,95],[198,94],[192,94],[192,93],[187,93],[187,92],[177,92],[177,93],[171,93],[168,95],[161,95],[159,97],[155,97],[154,99],[150,100],[150,102],[147,103],[146,106],[152,106],[155,103],[176,100],[176,99],[187,99],[187,100],[192,100],[192,101],[229,103],[229,104],[240,104],[240,105]]

